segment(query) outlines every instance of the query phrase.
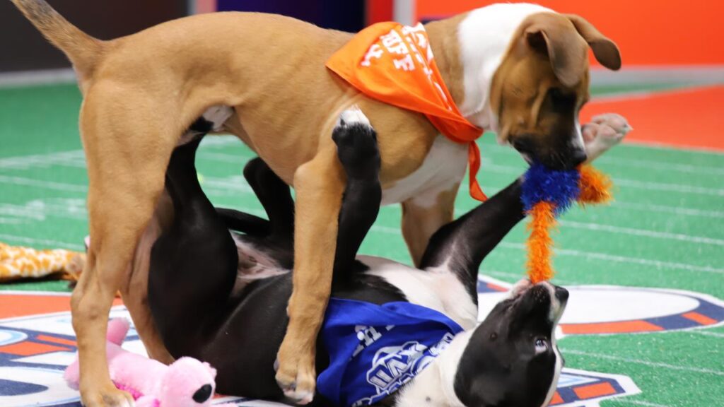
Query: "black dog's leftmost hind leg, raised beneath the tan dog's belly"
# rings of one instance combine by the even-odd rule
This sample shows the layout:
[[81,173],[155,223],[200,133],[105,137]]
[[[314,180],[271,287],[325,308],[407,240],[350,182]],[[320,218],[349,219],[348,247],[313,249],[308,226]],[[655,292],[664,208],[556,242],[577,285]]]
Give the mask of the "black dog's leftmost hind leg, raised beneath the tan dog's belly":
[[238,263],[234,240],[198,183],[200,142],[201,136],[171,156],[166,188],[174,220],[154,243],[148,272],[151,314],[175,357],[201,348],[204,328],[227,303]]

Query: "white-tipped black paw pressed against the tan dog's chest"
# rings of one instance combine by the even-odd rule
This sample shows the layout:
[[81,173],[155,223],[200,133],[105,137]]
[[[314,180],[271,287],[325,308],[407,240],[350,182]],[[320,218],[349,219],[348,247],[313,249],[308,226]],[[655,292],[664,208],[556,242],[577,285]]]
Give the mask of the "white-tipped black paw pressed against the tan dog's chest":
[[379,172],[377,134],[358,106],[340,114],[332,140],[337,143],[337,156],[348,177],[376,176]]

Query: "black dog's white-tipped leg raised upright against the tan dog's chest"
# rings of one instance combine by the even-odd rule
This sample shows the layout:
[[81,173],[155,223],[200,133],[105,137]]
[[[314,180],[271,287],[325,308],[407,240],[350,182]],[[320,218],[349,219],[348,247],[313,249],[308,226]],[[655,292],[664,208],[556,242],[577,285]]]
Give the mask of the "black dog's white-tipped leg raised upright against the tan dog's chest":
[[360,109],[353,107],[340,114],[332,139],[337,143],[337,156],[347,174],[334,255],[334,273],[337,273],[352,264],[362,240],[377,219],[382,187],[377,135]]

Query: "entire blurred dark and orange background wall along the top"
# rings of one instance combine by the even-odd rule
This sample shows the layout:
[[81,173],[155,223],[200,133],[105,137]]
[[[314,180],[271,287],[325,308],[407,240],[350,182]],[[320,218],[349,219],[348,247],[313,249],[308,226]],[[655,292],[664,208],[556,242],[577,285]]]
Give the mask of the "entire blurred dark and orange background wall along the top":
[[[373,22],[412,24],[466,12],[491,0],[49,0],[68,20],[98,38],[114,38],[187,14],[272,12],[324,28],[358,31]],[[724,1],[538,0],[559,12],[581,14],[620,46],[626,75],[597,70],[597,81],[724,81]],[[67,68],[69,64],[0,1],[0,72]],[[594,63],[595,66],[595,63]],[[64,75],[70,75],[66,73]],[[69,76],[70,77],[70,76]],[[0,82],[1,82],[0,78]]]

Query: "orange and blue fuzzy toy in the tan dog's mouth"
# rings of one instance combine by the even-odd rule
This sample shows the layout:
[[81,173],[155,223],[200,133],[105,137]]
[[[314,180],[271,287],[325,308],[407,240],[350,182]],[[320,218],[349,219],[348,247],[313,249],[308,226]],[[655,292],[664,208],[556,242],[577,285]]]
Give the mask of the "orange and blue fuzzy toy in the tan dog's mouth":
[[568,171],[531,165],[523,176],[521,193],[523,208],[531,217],[527,263],[531,282],[536,284],[553,277],[550,230],[556,226],[556,217],[571,207],[573,201],[581,205],[609,201],[610,187],[610,179],[587,164]]

